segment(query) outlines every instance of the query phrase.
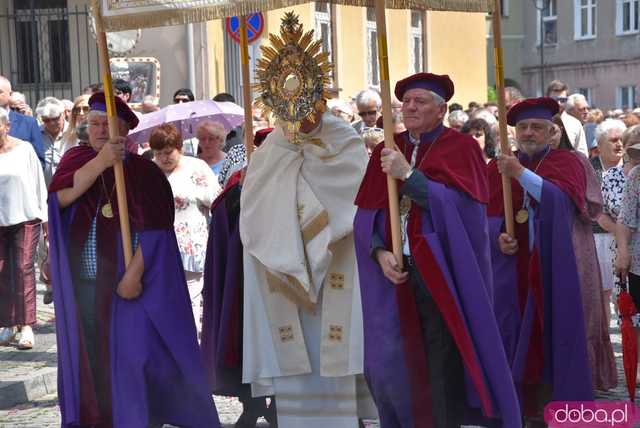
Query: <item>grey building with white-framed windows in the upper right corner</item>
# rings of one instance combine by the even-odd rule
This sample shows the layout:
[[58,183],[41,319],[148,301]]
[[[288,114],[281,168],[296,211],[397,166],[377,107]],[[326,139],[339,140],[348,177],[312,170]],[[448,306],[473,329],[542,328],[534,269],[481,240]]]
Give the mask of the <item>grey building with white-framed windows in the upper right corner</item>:
[[593,106],[638,106],[640,0],[545,0],[542,11],[535,0],[520,1],[525,17],[525,93],[540,94],[541,86],[559,79],[569,85],[570,93],[583,93]]

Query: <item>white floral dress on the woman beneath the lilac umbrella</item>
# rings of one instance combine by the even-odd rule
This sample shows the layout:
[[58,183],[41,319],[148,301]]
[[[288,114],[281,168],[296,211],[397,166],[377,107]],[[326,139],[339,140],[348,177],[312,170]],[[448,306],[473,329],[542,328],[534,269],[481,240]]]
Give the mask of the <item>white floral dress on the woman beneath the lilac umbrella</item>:
[[211,204],[220,193],[220,185],[203,160],[182,156],[167,178],[173,191],[173,223],[184,270],[204,272],[209,238]]

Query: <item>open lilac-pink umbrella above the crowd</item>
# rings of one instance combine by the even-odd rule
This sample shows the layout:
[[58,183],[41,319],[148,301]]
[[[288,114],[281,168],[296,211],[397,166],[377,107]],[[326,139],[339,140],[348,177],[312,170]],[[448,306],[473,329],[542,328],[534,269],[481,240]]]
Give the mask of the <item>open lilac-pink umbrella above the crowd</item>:
[[183,139],[192,138],[195,137],[198,124],[207,119],[219,122],[227,131],[231,131],[244,122],[244,110],[231,102],[210,100],[171,104],[140,117],[140,123],[128,137],[135,143],[145,143],[149,141],[154,128],[163,123],[172,123],[182,133]]

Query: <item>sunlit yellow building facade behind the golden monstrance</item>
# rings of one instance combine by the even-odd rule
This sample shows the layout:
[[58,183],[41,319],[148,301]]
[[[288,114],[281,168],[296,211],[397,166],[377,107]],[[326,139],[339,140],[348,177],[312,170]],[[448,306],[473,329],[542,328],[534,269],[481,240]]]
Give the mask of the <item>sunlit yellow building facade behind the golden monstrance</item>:
[[[280,19],[290,10],[300,16],[305,29],[315,30],[330,53],[338,97],[348,99],[363,89],[379,89],[375,13],[370,8],[315,2],[266,12],[263,35],[250,47],[252,59],[259,57],[260,44],[268,43],[269,32],[279,31]],[[386,17],[392,87],[410,74],[429,71],[451,76],[456,85],[452,102],[486,101],[484,14],[387,10]],[[229,57],[237,44],[229,42],[224,20],[208,22],[207,29],[212,93],[237,95],[240,65],[237,55]]]

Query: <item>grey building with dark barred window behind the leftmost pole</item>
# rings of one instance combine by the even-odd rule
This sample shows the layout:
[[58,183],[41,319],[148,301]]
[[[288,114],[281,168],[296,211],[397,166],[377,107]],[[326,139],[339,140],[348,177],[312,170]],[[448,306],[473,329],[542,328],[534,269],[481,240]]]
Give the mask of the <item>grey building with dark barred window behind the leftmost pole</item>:
[[[32,106],[46,96],[73,99],[86,86],[101,81],[90,3],[0,0],[0,74]],[[161,105],[171,102],[176,89],[191,85],[197,97],[209,95],[206,24],[111,36],[112,57],[144,58],[159,66],[155,68]]]

